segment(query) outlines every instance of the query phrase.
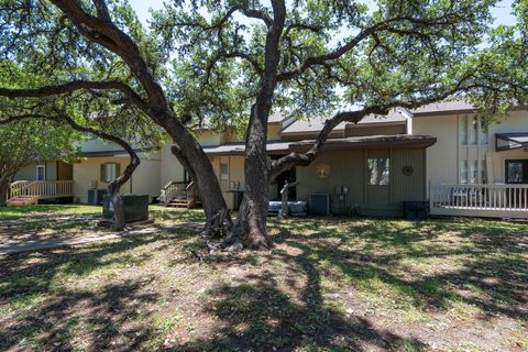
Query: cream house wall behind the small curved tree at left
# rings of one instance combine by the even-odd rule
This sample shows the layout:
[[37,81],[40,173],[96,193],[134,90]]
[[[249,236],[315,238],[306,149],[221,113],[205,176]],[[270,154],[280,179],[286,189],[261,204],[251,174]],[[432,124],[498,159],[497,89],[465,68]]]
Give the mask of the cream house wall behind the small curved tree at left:
[[[121,194],[147,194],[152,200],[160,196],[160,153],[139,154],[141,164],[135,169],[132,178],[121,187]],[[117,163],[121,172],[129,164],[129,156],[120,154],[114,156],[87,157],[74,164],[74,201],[88,202],[88,189],[92,182],[97,182],[98,189],[107,189],[108,184],[101,180],[100,167],[105,163]]]

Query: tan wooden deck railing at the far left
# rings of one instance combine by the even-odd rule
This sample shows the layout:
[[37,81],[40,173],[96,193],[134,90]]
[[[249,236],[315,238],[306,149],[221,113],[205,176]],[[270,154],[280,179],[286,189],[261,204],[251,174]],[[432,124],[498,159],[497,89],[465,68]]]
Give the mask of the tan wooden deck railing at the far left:
[[73,180],[22,180],[12,183],[10,198],[32,196],[38,199],[70,197],[74,195]]

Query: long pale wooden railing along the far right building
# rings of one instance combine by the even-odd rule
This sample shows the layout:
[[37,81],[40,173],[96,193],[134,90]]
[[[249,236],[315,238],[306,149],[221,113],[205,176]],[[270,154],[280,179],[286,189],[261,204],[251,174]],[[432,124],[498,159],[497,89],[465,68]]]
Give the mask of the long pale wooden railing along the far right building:
[[528,185],[437,185],[429,199],[431,215],[528,217]]

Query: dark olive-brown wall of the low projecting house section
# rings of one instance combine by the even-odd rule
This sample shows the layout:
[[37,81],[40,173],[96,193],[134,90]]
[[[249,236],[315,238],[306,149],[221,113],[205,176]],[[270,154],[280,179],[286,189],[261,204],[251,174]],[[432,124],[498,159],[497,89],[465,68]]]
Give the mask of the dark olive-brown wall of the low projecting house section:
[[[367,185],[367,158],[389,158],[389,184]],[[317,175],[320,163],[330,165],[327,178]],[[404,166],[413,174],[405,176]],[[426,200],[425,148],[365,148],[327,151],[311,165],[297,167],[297,199],[309,201],[311,194],[329,194],[332,212],[356,210],[370,216],[402,216],[403,201]],[[336,193],[336,187],[346,186],[346,196]]]

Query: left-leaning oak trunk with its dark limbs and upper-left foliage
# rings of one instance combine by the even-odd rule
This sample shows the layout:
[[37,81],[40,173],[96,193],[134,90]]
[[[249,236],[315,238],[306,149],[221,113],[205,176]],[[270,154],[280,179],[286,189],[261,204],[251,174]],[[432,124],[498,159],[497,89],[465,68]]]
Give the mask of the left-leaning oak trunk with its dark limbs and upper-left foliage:
[[[173,109],[162,85],[169,80],[164,57],[153,47],[133,10],[123,1],[0,1],[0,51],[3,63],[16,63],[41,77],[0,88],[2,114],[14,119],[38,109],[68,113],[102,113],[128,128],[147,118],[166,131],[173,151],[196,175],[208,218],[226,209],[212,166],[185,117]],[[13,103],[10,100],[14,100]],[[10,109],[4,107],[10,106]],[[107,113],[107,110],[127,113]],[[175,160],[176,162],[176,160]],[[198,177],[199,176],[199,177]]]

